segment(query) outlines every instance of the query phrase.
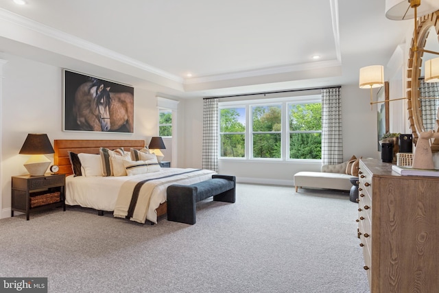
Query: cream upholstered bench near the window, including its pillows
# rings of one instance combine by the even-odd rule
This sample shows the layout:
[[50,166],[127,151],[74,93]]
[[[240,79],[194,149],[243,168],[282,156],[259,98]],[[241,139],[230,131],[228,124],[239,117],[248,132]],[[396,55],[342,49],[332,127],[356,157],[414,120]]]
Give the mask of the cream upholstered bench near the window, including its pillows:
[[351,178],[356,176],[346,174],[346,166],[350,162],[346,161],[337,165],[322,165],[322,172],[298,172],[294,174],[296,192],[298,187],[351,190]]

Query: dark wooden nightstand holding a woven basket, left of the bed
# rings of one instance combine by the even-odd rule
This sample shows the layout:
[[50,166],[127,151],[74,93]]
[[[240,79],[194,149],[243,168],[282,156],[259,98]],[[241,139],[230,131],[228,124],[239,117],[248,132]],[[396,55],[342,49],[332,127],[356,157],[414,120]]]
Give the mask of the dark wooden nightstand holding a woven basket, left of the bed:
[[65,182],[65,174],[12,176],[11,216],[14,217],[14,211],[20,211],[29,220],[30,211],[43,207],[62,206],[65,211]]

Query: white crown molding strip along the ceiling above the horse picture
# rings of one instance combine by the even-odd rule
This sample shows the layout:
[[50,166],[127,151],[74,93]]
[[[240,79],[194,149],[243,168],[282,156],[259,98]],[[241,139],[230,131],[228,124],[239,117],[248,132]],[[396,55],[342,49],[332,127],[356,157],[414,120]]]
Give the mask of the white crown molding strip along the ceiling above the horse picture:
[[49,27],[48,25],[44,25],[43,23],[38,23],[37,21],[33,21],[32,19],[27,19],[24,16],[15,14],[14,12],[10,12],[9,10],[5,10],[3,8],[0,8],[0,19],[3,21],[8,21],[14,25],[25,27],[27,30],[32,30],[34,32],[38,32],[39,34],[44,34],[45,36],[49,36],[50,38],[60,40],[64,43],[73,45],[75,47],[80,47],[82,49],[92,51],[95,54],[106,56],[107,58],[122,62],[126,65],[137,67],[144,71],[153,73],[155,75],[159,75],[163,78],[173,80],[174,82],[182,83],[184,80],[183,78],[180,78],[177,75],[168,73],[156,67],[152,67],[143,62],[139,62],[139,60],[135,60],[134,58],[130,58],[126,55],[119,54],[116,51],[106,49],[105,47],[96,45],[95,43],[88,42],[87,40],[84,40],[82,38],[72,36],[71,34],[66,34],[60,30],[56,30],[54,27]]

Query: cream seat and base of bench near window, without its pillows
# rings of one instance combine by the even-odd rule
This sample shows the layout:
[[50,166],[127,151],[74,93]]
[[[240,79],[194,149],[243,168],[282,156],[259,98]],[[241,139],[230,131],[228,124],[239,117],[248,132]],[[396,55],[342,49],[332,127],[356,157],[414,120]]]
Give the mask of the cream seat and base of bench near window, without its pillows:
[[294,174],[296,192],[298,187],[351,190],[352,175],[329,172],[298,172]]

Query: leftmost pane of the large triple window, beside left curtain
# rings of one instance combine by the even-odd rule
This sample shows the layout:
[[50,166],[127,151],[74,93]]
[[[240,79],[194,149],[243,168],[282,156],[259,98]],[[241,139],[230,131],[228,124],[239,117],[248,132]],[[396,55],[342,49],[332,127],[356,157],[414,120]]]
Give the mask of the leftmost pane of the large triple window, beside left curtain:
[[246,108],[219,110],[220,156],[244,158],[246,156]]

